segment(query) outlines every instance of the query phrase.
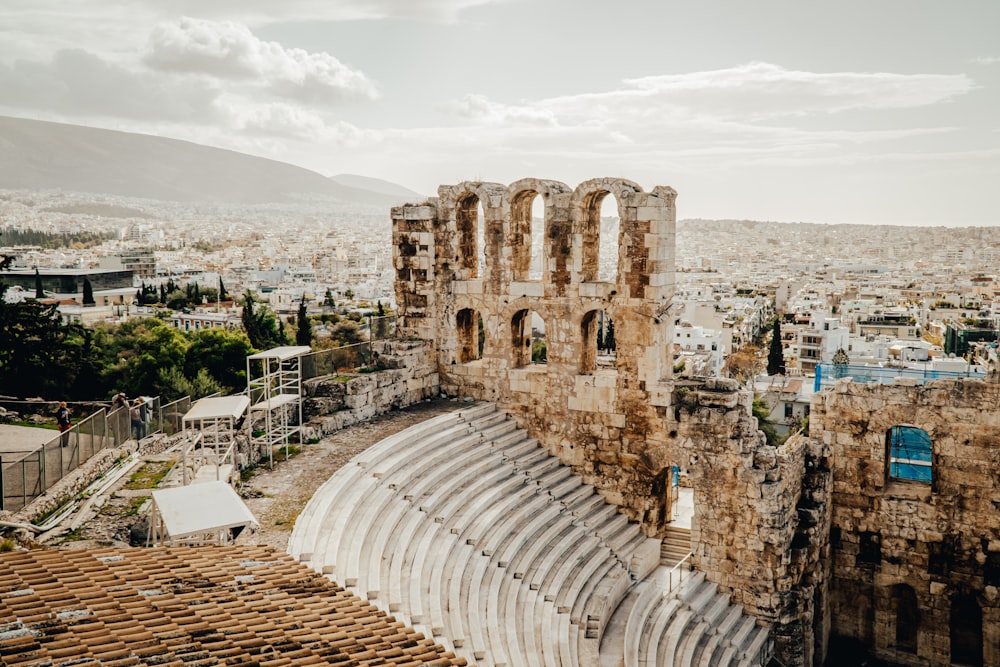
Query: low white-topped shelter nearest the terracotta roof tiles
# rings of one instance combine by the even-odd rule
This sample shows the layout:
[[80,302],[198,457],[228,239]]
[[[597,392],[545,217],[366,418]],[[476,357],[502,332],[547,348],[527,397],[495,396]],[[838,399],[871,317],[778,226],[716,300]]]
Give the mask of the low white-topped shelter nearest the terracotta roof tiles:
[[225,482],[153,491],[150,537],[154,544],[228,543],[234,529],[257,526],[250,508]]

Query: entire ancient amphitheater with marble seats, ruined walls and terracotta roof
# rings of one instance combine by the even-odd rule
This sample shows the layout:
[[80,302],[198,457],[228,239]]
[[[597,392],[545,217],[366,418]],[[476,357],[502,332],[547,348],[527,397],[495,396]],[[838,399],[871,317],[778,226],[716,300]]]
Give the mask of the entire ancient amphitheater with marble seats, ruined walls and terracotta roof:
[[768,444],[748,389],[673,377],[676,196],[524,179],[393,209],[400,336],[343,395],[307,387],[334,412],[302,431],[462,408],[331,477],[288,555],[0,554],[0,661],[1000,667],[998,378],[844,378]]

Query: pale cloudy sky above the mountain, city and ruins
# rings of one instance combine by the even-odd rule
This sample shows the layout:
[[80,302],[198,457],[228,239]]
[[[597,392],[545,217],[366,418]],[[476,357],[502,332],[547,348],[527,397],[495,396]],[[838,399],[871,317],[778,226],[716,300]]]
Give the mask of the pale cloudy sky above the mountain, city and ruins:
[[681,218],[996,225],[1000,2],[3,0],[0,114],[424,194],[670,185]]

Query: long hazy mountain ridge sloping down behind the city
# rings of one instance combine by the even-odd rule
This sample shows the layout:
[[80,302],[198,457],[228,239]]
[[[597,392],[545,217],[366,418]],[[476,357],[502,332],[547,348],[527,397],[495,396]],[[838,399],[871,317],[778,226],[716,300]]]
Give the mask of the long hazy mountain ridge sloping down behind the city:
[[412,198],[385,191],[392,186],[409,192],[402,186],[370,180],[380,183],[380,190],[338,183],[277,160],[177,139],[0,116],[0,188],[4,189],[243,204],[310,195],[392,206]]

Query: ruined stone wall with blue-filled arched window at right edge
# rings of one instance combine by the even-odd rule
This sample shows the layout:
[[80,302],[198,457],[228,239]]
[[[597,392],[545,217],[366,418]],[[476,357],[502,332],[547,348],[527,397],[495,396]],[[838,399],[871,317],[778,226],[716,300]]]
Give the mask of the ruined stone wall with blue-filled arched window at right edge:
[[[833,461],[833,634],[898,664],[1000,665],[1000,386],[841,381],[810,421]],[[890,479],[897,425],[929,434],[930,483]]]

